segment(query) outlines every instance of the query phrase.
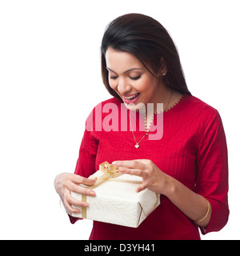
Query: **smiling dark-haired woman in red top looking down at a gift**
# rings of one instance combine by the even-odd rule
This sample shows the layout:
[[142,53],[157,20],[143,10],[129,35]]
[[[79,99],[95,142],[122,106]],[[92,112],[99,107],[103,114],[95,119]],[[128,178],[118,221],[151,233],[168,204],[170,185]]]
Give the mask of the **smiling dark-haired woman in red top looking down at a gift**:
[[[94,197],[93,190],[78,184],[93,185],[94,179],[87,177],[107,161],[123,174],[142,177],[136,192],[148,188],[161,194],[161,204],[137,229],[94,222],[90,239],[200,239],[198,228],[202,234],[221,230],[229,216],[222,121],[217,110],[190,94],[170,35],[153,18],[126,14],[110,23],[101,50],[103,82],[114,98],[102,102],[98,111],[106,104],[118,106],[119,129],[97,130],[94,108],[93,126],[82,138],[75,174],[55,178],[66,211],[79,211],[71,205],[88,206],[72,198],[70,191]],[[157,127],[163,127],[162,136],[150,139],[160,103],[163,126]],[[129,122],[121,130],[124,107]],[[136,126],[141,113],[146,114],[146,130]],[[70,216],[72,223],[77,220]]]

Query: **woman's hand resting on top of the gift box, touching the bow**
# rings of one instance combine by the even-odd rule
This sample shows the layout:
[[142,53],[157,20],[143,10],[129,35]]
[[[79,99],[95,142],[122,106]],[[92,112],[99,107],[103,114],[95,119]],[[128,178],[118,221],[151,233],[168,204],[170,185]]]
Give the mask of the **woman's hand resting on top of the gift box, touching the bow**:
[[151,160],[114,161],[112,164],[118,166],[122,174],[142,177],[142,184],[138,186],[136,192],[148,188],[157,194],[167,194],[170,189],[171,177],[162,172]]

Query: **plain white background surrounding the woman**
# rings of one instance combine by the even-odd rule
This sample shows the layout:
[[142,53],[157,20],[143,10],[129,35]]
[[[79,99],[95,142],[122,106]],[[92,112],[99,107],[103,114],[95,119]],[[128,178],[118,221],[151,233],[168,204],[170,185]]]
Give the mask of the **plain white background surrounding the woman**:
[[152,16],[178,46],[194,96],[218,109],[226,130],[230,219],[202,239],[239,239],[239,1],[1,1],[0,238],[88,239],[70,224],[54,177],[74,172],[85,119],[110,98],[100,45],[119,15]]

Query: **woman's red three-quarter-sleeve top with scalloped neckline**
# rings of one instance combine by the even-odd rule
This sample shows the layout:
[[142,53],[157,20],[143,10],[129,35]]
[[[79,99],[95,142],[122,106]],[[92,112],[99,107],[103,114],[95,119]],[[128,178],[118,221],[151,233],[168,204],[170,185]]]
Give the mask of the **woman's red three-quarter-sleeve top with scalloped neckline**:
[[[105,161],[150,159],[160,170],[209,200],[212,214],[207,228],[200,229],[202,234],[221,230],[229,216],[228,160],[226,137],[218,111],[186,94],[176,106],[163,114],[162,138],[149,140],[146,136],[136,149],[129,122],[127,130],[121,131],[122,102],[118,99],[111,98],[100,103],[88,121],[93,118],[96,126],[95,112],[96,119],[104,120],[107,117],[105,122],[109,121],[111,112],[102,113],[102,117],[100,113],[106,103],[112,103],[113,108],[118,106],[117,125],[120,131],[88,131],[89,126],[86,126],[88,130],[82,138],[75,174],[89,177]],[[109,104],[107,106],[111,106]],[[102,112],[106,112],[106,109]],[[139,116],[137,122],[138,119]],[[158,124],[156,115],[154,121],[154,124]],[[110,121],[110,125],[115,124],[113,120]],[[144,131],[139,131],[137,126],[134,135],[139,141]],[[77,220],[70,217],[72,223]],[[90,239],[200,239],[200,235],[198,226],[162,195],[161,204],[138,228],[94,221]]]

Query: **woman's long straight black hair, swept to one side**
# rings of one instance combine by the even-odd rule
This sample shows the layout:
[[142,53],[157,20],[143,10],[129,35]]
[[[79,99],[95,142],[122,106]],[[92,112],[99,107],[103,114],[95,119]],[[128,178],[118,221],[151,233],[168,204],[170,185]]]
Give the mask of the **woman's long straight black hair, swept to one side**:
[[106,70],[106,50],[111,47],[133,54],[140,62],[155,74],[165,61],[167,73],[164,76],[166,86],[182,94],[190,94],[186,86],[178,50],[170,34],[154,18],[143,14],[122,15],[110,22],[102,38],[102,80],[106,89],[116,98],[118,94],[110,87],[108,70]]

